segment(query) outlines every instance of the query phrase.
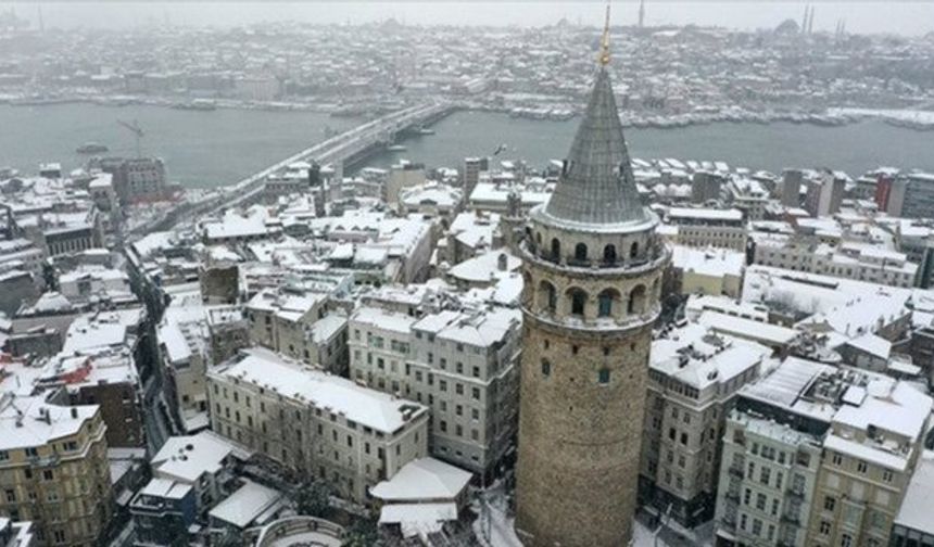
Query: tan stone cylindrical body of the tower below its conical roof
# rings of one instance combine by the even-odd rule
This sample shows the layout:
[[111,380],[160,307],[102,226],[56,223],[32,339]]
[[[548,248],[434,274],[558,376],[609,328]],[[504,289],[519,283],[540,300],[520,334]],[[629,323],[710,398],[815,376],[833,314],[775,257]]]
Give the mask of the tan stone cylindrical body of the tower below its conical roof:
[[[523,247],[516,529],[527,547],[617,547],[631,537],[652,325],[668,259],[664,247],[647,247],[657,254],[617,268],[568,267]],[[552,302],[545,283],[555,288]],[[630,308],[638,287],[644,297]],[[597,295],[608,289],[618,300],[598,317]],[[572,309],[577,290],[586,293],[582,315]]]

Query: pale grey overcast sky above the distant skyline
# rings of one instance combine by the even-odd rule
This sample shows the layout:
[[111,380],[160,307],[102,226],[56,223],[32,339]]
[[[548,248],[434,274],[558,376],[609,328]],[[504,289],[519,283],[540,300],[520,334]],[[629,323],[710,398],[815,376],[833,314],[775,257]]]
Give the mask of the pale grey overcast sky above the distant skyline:
[[[833,30],[841,17],[854,33],[898,33],[920,35],[934,30],[934,1],[872,2],[817,1],[815,29]],[[36,20],[36,2],[0,2],[14,8],[17,15]],[[614,23],[630,24],[636,18],[639,2],[614,2]],[[792,17],[800,21],[805,2],[730,1],[677,2],[646,0],[648,24],[719,24],[728,27],[773,27]],[[60,1],[42,3],[47,27],[122,27],[146,25],[166,17],[173,23],[191,25],[239,25],[260,21],[296,20],[319,23],[366,23],[395,17],[418,24],[475,25],[546,25],[566,16],[576,22],[599,24],[599,1],[525,1],[525,2],[193,2],[193,1]]]

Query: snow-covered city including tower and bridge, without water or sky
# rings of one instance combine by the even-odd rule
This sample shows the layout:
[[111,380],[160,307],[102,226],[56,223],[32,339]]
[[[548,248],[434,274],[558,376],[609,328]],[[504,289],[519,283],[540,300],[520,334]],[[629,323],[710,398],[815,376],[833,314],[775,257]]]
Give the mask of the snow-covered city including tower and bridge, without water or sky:
[[[759,30],[644,3],[540,28],[0,11],[0,119],[331,120],[214,188],[127,116],[119,153],[0,166],[0,547],[934,545],[930,157],[631,152],[646,127],[934,130],[934,33],[815,30],[821,8]],[[575,131],[542,165],[492,131],[407,156],[458,112]]]

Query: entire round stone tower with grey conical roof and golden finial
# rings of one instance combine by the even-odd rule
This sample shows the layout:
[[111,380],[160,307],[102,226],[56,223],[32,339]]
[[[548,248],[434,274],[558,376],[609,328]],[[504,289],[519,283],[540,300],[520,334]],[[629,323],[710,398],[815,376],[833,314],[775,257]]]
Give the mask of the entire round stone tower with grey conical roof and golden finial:
[[652,326],[669,252],[640,201],[599,66],[523,260],[516,532],[526,547],[621,547],[632,538]]

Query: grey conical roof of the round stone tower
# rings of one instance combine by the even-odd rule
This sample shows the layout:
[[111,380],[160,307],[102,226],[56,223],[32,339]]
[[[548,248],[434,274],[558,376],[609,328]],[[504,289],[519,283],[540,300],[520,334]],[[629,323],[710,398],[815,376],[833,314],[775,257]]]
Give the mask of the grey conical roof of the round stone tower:
[[545,214],[558,220],[589,225],[636,224],[649,219],[635,189],[622,124],[605,66],[597,71],[586,111]]

